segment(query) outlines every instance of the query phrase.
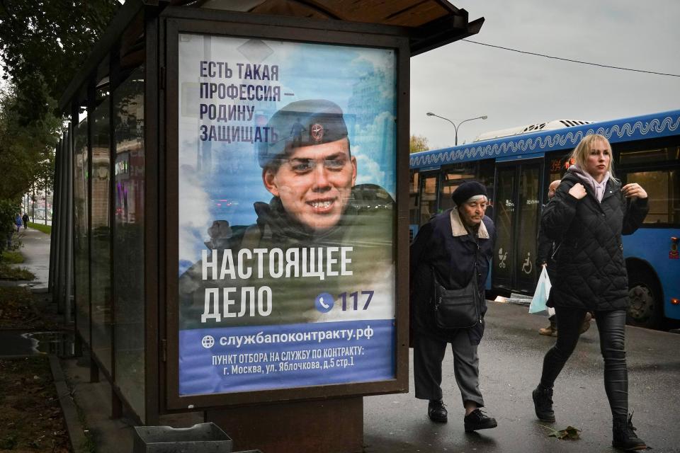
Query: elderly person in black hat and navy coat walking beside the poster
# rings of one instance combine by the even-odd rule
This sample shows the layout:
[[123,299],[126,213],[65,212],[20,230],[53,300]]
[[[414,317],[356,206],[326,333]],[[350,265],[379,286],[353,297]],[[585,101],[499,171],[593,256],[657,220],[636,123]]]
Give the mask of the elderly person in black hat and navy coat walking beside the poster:
[[[466,181],[453,193],[455,207],[438,214],[421,229],[411,246],[411,307],[414,331],[416,398],[429,400],[428,416],[446,423],[441,390],[441,362],[450,343],[453,371],[465,408],[465,431],[495,428],[496,420],[480,411],[484,399],[479,386],[477,346],[484,333],[485,281],[494,251],[496,229],[485,209],[484,185]],[[467,328],[446,328],[438,320],[435,285],[445,290],[474,285],[479,319]]]

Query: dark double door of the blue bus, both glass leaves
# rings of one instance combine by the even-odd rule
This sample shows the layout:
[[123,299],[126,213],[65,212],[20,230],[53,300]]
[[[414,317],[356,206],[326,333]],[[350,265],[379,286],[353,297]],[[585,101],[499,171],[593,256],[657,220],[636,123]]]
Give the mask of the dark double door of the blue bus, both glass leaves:
[[494,223],[497,241],[492,287],[533,294],[543,159],[497,162]]

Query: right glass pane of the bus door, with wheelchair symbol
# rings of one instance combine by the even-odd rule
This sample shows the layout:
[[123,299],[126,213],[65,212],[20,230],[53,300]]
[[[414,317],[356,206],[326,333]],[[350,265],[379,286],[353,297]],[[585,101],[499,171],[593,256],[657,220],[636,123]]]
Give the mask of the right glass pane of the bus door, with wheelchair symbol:
[[539,166],[522,166],[519,176],[519,202],[517,222],[516,276],[514,289],[533,292],[536,284],[536,237],[538,236]]

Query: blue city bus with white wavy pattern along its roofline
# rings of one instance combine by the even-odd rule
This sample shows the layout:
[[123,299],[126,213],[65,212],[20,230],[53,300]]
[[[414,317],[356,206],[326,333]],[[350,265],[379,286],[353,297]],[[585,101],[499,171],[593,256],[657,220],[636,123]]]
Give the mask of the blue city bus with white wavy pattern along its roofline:
[[607,137],[616,177],[640,183],[650,196],[645,224],[623,236],[628,322],[663,328],[669,319],[680,320],[680,110],[605,122],[565,122],[557,130],[411,154],[411,234],[432,214],[452,206],[451,194],[460,183],[480,180],[491,198],[487,215],[498,231],[487,289],[500,295],[533,294],[538,278],[536,236],[548,185],[562,177],[572,149],[587,134]]

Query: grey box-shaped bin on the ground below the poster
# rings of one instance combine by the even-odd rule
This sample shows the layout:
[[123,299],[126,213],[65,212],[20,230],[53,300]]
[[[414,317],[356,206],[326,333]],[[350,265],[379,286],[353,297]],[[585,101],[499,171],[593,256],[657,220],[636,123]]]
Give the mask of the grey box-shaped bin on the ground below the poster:
[[191,428],[135,426],[132,453],[232,453],[232,440],[215,423]]

